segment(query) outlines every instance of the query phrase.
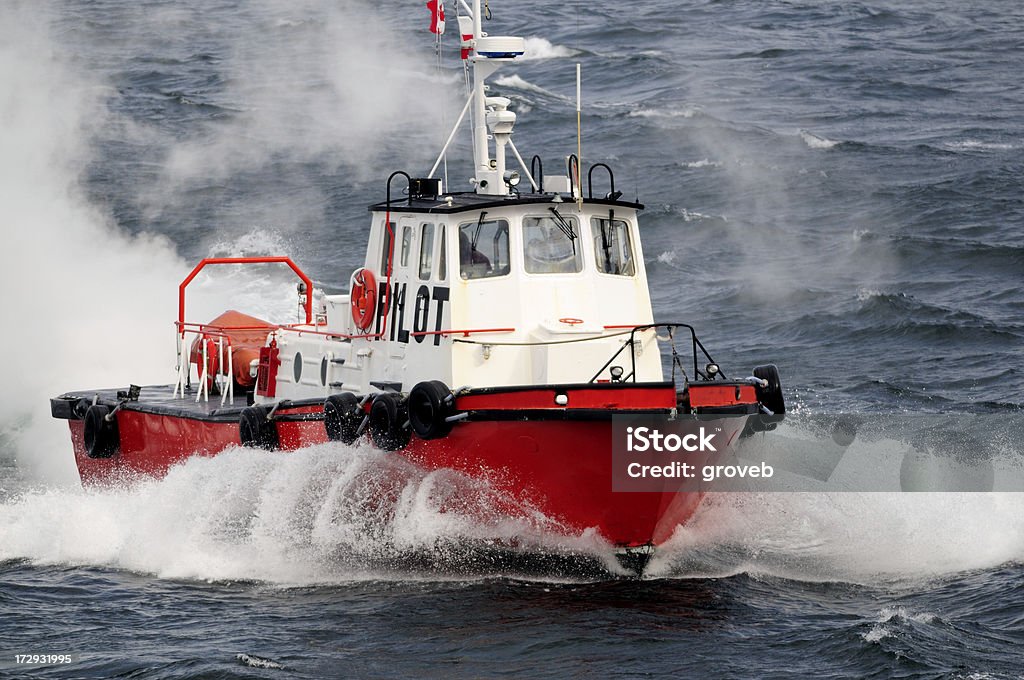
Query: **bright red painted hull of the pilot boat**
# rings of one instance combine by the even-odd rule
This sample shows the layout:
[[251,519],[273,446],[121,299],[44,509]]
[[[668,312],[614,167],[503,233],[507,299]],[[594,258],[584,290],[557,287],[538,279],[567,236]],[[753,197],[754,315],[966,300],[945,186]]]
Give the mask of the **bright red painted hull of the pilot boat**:
[[[573,408],[553,408],[556,393],[568,393]],[[728,395],[736,401],[751,396],[735,388]],[[566,535],[596,529],[617,547],[656,546],[689,520],[702,493],[680,492],[680,482],[671,478],[664,480],[663,491],[613,492],[610,416],[667,413],[675,402],[675,391],[662,385],[480,391],[458,398],[458,410],[472,413],[472,419],[443,438],[414,436],[398,455],[428,470],[454,469],[483,478],[510,500],[544,513]],[[281,449],[328,441],[321,413],[318,405],[280,409],[275,428]],[[723,438],[731,442],[742,422],[723,419]],[[239,424],[227,419],[161,415],[136,407],[120,411],[117,423],[119,452],[90,458],[83,421],[70,421],[84,482],[159,476],[186,458],[213,456],[240,443]]]

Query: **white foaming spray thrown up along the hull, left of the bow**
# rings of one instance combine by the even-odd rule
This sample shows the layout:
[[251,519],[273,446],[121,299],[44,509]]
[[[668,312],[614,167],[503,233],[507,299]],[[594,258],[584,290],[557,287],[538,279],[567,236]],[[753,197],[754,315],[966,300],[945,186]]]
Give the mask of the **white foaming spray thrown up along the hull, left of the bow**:
[[[424,471],[369,445],[233,449],[162,479],[49,488],[0,504],[0,561],[124,568],[169,579],[280,584],[386,578],[411,555],[507,542],[606,553],[465,475]],[[449,551],[449,552],[445,552]],[[384,565],[384,566],[382,566]]]

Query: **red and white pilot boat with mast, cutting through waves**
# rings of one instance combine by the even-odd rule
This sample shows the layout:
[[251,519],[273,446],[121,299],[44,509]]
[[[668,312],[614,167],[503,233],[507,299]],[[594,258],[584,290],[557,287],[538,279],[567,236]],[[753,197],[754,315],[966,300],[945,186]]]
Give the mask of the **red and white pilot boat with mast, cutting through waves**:
[[[540,156],[522,160],[516,114],[486,81],[525,41],[484,33],[479,0],[464,7],[461,55],[473,78],[449,143],[470,114],[467,189],[434,176],[449,143],[425,176],[392,173],[384,201],[370,206],[366,259],[345,294],[317,296],[284,256],[200,262],[178,287],[173,384],[51,399],[83,482],[161,475],[238,445],[369,438],[424,469],[479,478],[559,533],[596,533],[624,556],[648,555],[705,490],[664,478],[623,491],[616,419],[693,431],[710,419],[721,450],[770,427],[759,417],[784,413],[775,367],[728,379],[692,326],[655,322],[643,206],[615,190],[610,166],[585,172],[579,147],[557,175],[544,174]],[[431,8],[437,33],[442,9]],[[606,190],[595,195],[595,180]],[[301,323],[234,310],[187,318],[188,285],[206,267],[267,263],[298,278]]]

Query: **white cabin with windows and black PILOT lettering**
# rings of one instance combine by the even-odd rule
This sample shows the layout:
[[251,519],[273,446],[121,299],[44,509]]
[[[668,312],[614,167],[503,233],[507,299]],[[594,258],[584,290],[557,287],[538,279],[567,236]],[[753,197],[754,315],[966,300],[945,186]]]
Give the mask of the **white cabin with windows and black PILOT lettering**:
[[[453,387],[603,382],[613,379],[612,366],[634,379],[629,351],[607,362],[633,327],[653,323],[639,207],[581,206],[558,194],[402,200],[391,206],[390,255],[386,205],[374,206],[364,263],[376,281],[369,327],[357,328],[349,295],[327,296],[322,325],[271,335],[276,389],[257,400],[408,391],[425,380]],[[640,337],[635,380],[659,382],[654,335]]]

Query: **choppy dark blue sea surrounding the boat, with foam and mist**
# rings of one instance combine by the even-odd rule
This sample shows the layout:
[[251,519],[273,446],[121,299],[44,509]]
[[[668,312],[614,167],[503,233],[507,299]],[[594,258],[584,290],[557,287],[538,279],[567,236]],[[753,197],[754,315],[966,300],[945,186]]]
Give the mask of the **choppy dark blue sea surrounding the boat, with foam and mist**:
[[[1022,405],[1019,3],[492,4],[486,29],[532,54],[493,92],[549,174],[575,151],[583,65],[585,163],[647,206],[656,316],[727,370],[777,364],[798,414],[969,413],[975,442],[1019,451],[985,440]],[[0,675],[1021,677],[1017,493],[721,495],[622,581],[480,549],[609,557],[369,448],[77,487],[47,397],[169,382],[191,262],[287,252],[345,287],[366,206],[391,171],[429,169],[462,104],[427,19],[419,2],[0,6]],[[223,272],[196,315],[293,296]],[[74,658],[15,664],[45,653]]]

